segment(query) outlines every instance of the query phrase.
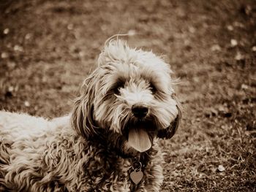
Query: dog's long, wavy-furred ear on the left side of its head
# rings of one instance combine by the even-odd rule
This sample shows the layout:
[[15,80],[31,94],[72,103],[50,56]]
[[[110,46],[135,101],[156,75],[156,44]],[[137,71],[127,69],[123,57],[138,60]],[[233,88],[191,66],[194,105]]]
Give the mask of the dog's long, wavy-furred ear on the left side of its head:
[[95,123],[93,118],[94,96],[95,96],[95,73],[92,73],[80,89],[80,96],[75,99],[72,110],[71,123],[75,131],[85,138],[95,134]]

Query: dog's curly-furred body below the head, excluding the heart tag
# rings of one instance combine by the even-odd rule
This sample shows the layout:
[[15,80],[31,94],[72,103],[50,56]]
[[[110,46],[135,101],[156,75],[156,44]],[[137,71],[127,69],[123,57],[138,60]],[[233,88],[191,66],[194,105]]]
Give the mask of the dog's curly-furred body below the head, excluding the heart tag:
[[[87,142],[71,128],[69,117],[48,121],[0,112],[0,135],[0,191],[135,189],[129,180],[134,159],[116,155],[104,143]],[[143,167],[140,188],[148,185],[151,191],[162,183],[162,155],[157,145],[144,155],[145,165],[152,164]]]

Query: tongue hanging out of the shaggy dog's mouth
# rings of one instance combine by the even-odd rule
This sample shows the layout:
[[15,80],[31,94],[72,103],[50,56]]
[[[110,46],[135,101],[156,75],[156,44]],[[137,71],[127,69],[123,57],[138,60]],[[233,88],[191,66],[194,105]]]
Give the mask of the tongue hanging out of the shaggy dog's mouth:
[[151,140],[147,132],[141,128],[132,128],[129,131],[128,143],[139,152],[144,152],[151,148]]

